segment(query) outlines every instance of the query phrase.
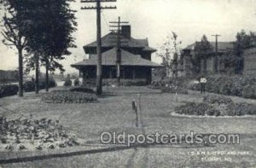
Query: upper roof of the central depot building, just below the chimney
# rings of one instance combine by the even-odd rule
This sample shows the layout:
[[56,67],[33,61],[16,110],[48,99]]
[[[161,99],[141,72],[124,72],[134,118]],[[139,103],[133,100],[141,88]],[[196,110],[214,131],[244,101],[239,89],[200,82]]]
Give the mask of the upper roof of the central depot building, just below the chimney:
[[[106,36],[102,37],[102,48],[113,48],[116,46],[117,34],[114,32],[109,32]],[[125,38],[121,35],[121,47],[122,48],[141,48],[148,51],[156,51],[156,49],[148,47],[148,38],[146,39],[135,39],[135,38]],[[88,48],[96,48],[96,42],[84,45],[84,50]]]

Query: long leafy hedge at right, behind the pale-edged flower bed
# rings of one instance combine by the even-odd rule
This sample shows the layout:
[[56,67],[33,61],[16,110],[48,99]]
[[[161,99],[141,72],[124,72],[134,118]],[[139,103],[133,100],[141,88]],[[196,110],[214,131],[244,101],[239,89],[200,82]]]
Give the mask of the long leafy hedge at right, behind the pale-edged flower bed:
[[[191,90],[200,90],[200,84],[192,84]],[[228,96],[256,98],[256,78],[252,76],[211,76],[207,77],[206,90]]]

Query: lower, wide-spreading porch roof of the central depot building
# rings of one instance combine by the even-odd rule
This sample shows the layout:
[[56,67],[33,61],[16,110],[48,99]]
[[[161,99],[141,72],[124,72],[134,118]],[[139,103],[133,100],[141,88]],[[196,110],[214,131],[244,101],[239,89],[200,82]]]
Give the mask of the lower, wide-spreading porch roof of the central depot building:
[[[160,64],[154,63],[141,58],[141,55],[133,55],[124,49],[121,49],[121,66],[140,66],[140,67],[162,67]],[[96,66],[96,55],[90,55],[90,59],[80,61],[71,67],[84,67],[84,66]],[[116,65],[116,48],[109,49],[102,53],[102,66],[115,66]]]

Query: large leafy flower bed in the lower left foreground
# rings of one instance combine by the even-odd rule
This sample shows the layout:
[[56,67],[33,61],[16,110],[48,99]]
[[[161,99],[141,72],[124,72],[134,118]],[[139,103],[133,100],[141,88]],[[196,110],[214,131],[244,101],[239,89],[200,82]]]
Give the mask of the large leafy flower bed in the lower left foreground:
[[51,119],[13,119],[0,116],[0,151],[43,150],[78,145],[72,132]]

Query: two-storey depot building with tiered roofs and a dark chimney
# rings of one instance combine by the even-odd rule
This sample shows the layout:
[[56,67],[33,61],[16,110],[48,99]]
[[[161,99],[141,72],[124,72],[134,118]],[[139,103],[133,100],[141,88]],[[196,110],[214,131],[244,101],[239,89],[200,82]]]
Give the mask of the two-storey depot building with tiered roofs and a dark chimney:
[[[108,33],[102,38],[102,78],[117,78],[117,34]],[[152,78],[152,68],[162,67],[151,61],[151,55],[156,51],[149,47],[148,38],[131,38],[131,26],[121,27],[121,78],[145,79],[149,84]],[[84,46],[89,59],[71,65],[79,70],[86,79],[96,79],[96,42]]]

